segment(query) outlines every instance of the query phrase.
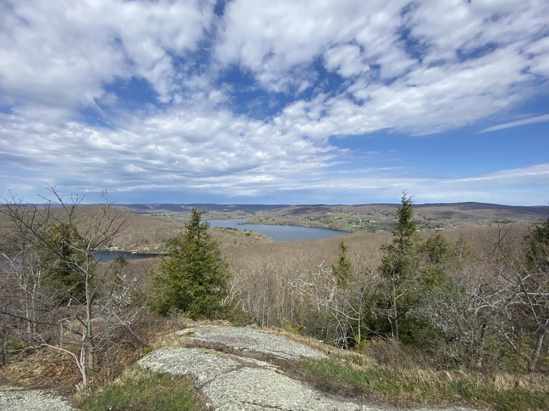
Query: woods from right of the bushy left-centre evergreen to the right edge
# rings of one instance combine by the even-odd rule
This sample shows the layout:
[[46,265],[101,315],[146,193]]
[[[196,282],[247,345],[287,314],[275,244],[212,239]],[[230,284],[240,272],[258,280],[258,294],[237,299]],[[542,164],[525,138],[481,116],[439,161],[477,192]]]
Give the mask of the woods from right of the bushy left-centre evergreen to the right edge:
[[331,262],[314,245],[233,259],[241,321],[343,348],[398,343],[436,366],[549,370],[549,220],[528,232],[500,223],[482,236],[425,238],[404,195],[393,238],[360,248],[342,241]]

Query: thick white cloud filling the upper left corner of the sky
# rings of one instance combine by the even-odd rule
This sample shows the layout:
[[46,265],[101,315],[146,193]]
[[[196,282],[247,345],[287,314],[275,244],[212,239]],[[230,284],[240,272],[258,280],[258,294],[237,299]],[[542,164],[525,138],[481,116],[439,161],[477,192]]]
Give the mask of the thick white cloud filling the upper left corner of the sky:
[[2,2],[0,14],[3,100],[71,108],[93,106],[105,83],[132,76],[169,101],[172,55],[196,49],[213,1]]

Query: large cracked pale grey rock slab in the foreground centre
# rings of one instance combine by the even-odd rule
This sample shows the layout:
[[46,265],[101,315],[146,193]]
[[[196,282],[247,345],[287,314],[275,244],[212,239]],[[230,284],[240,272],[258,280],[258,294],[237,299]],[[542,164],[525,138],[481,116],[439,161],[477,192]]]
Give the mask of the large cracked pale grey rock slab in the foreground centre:
[[[323,359],[325,355],[283,336],[257,329],[214,325],[192,327],[178,335],[202,347],[159,349],[141,358],[138,364],[150,371],[193,375],[196,388],[209,398],[215,410],[397,410],[327,395],[286,375],[270,359],[274,362]],[[414,410],[470,411],[462,407]]]

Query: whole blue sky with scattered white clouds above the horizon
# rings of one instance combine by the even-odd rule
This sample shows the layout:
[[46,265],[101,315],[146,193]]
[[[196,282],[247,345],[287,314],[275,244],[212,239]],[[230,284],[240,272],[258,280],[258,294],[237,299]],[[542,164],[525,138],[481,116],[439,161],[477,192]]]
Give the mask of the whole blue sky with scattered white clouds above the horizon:
[[0,0],[0,196],[549,203],[546,0]]

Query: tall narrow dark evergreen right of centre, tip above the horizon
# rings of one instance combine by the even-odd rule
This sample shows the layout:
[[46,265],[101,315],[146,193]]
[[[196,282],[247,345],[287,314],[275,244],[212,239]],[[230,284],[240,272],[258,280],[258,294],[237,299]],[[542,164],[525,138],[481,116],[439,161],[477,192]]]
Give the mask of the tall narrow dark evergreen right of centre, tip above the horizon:
[[399,323],[419,299],[417,288],[420,238],[414,223],[412,198],[402,193],[401,206],[397,210],[397,225],[393,229],[393,242],[382,246],[384,257],[379,272],[388,284],[388,312],[391,332],[399,340]]

